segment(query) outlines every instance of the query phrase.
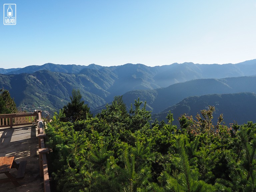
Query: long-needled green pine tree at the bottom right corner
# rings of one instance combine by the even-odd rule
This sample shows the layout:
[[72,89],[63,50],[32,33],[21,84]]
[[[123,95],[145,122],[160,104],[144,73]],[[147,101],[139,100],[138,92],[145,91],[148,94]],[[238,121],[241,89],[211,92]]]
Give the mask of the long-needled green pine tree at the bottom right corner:
[[226,156],[229,179],[218,178],[216,182],[220,188],[232,191],[256,191],[256,124],[248,122],[240,126],[236,135],[238,139],[233,141],[235,150],[230,150]]

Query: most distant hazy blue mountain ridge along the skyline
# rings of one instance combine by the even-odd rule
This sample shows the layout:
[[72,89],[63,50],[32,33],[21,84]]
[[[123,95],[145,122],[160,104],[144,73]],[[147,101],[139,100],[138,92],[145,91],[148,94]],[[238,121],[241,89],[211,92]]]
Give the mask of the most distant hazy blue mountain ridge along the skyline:
[[[120,66],[103,67],[100,65],[91,64],[88,66],[81,65],[57,65],[47,63],[41,66],[27,66],[25,68],[11,71],[5,74],[20,74],[34,73],[40,70],[49,70],[52,72],[61,73],[83,73],[83,69],[93,69],[105,72],[112,72],[117,75],[118,81],[115,82],[117,87],[122,89],[128,86],[129,89],[155,89],[160,87],[168,87],[169,85],[185,82],[193,79],[208,79],[208,78],[226,78],[256,75],[256,59],[245,61],[237,64],[194,64],[194,63],[173,63],[171,65],[148,67],[143,64],[125,64]],[[139,83],[138,86],[130,85]],[[124,84],[123,86],[121,84]],[[141,86],[143,85],[143,86]],[[115,86],[114,86],[115,87]],[[115,89],[110,90],[114,94]]]

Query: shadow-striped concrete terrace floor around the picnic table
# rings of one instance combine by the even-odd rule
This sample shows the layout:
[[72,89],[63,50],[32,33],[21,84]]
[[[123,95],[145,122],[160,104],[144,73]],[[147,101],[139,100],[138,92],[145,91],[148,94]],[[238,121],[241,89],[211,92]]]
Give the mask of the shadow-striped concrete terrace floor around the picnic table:
[[[19,180],[21,185],[15,187],[12,182],[0,184],[0,191],[43,192],[43,178],[39,172],[38,138],[35,126],[20,126],[0,129],[0,156],[14,156],[18,163],[27,160],[25,177]],[[17,169],[11,169],[17,174]],[[7,178],[0,174],[0,179]]]

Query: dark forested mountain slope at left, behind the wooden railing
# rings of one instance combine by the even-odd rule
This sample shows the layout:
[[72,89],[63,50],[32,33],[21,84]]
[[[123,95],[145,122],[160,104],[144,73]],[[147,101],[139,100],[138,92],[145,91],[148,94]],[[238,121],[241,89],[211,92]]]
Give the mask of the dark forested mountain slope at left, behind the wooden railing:
[[94,108],[106,103],[109,92],[86,75],[38,71],[33,74],[0,75],[0,87],[9,90],[18,108],[31,110],[43,107],[53,114],[68,101],[72,89],[79,89],[85,103]]

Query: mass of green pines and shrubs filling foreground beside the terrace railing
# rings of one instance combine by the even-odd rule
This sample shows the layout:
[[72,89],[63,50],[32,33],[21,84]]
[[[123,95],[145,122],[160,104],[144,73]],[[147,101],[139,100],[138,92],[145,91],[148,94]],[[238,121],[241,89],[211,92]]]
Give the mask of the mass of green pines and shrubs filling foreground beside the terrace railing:
[[55,113],[46,134],[54,191],[256,191],[256,124],[213,124],[215,108],[173,125],[149,123],[136,100],[130,113],[116,97],[96,117],[62,122]]

